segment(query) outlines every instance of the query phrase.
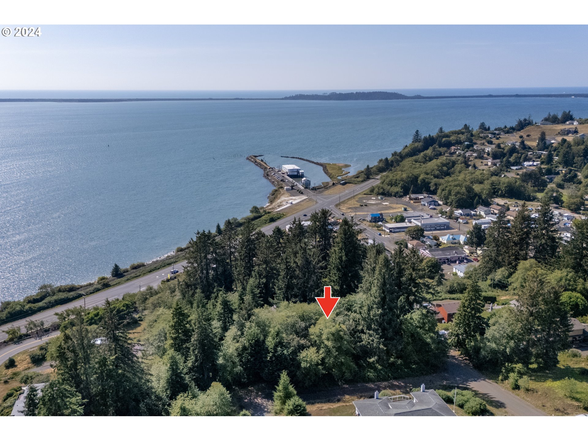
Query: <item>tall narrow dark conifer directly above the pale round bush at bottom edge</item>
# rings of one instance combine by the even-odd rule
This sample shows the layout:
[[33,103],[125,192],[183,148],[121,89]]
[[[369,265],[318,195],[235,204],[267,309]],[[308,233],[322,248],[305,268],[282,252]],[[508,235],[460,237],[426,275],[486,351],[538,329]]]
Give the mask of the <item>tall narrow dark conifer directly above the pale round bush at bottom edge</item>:
[[188,375],[198,389],[211,386],[216,375],[216,347],[209,313],[199,308],[194,317],[194,333],[190,343]]

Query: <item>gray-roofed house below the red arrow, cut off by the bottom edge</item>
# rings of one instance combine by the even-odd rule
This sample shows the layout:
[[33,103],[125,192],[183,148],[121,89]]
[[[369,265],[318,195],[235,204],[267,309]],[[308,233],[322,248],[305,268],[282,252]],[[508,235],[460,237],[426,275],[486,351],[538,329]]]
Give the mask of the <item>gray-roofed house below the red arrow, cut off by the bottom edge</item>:
[[354,401],[357,416],[456,416],[433,389],[420,386],[419,392],[408,395],[374,397]]

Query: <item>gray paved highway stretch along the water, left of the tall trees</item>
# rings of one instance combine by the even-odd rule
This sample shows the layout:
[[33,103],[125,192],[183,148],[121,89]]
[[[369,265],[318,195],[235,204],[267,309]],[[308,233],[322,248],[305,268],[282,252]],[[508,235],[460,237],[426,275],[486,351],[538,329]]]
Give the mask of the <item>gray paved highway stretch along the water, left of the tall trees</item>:
[[[175,264],[175,269],[179,270],[179,272],[183,271],[183,266],[186,264],[186,261],[179,262]],[[91,308],[92,306],[102,305],[104,300],[106,299],[118,299],[121,298],[124,294],[128,292],[137,292],[139,290],[139,285],[141,285],[141,290],[144,290],[148,286],[157,286],[159,282],[163,278],[166,278],[169,272],[172,270],[172,266],[168,266],[166,268],[159,269],[155,272],[149,273],[145,276],[141,276],[139,278],[129,280],[129,282],[121,283],[121,285],[113,286],[112,288],[104,289],[102,291],[98,291],[94,294],[86,296],[86,308]],[[35,315],[28,316],[24,319],[15,320],[11,323],[5,323],[5,325],[0,326],[0,329],[7,329],[11,326],[20,326],[22,330],[26,325],[28,320],[43,320],[45,325],[49,323],[55,322],[57,320],[55,313],[61,312],[69,308],[74,308],[74,306],[83,306],[84,299],[74,300],[74,302],[65,303],[65,305],[56,306],[55,308],[46,309],[44,311],[38,312]],[[7,336],[5,332],[0,331],[0,342],[6,340]]]

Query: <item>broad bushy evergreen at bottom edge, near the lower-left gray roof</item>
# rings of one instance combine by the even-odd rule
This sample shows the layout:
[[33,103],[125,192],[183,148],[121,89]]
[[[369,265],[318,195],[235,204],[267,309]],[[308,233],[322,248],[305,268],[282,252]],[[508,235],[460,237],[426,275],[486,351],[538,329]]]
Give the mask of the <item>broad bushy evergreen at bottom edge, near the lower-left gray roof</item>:
[[61,380],[51,380],[43,388],[37,415],[81,416],[84,401],[82,396]]

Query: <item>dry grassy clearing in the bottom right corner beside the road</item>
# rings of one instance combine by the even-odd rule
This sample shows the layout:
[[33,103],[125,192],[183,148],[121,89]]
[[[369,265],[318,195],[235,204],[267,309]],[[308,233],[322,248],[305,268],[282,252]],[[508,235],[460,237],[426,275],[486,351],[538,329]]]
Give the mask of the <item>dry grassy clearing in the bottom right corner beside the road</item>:
[[[547,372],[529,372],[529,390],[512,392],[542,409],[547,415],[577,415],[588,411],[588,358],[573,358],[567,352],[559,356],[556,368]],[[500,382],[499,382],[500,383]],[[509,389],[508,382],[502,382]]]

